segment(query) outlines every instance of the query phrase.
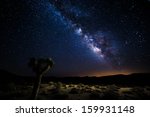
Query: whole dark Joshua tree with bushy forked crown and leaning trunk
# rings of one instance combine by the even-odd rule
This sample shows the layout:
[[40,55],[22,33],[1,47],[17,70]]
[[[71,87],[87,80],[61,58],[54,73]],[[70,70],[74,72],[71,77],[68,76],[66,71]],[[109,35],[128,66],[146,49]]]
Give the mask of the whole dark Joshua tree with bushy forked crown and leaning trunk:
[[37,99],[42,76],[53,67],[54,62],[52,61],[51,58],[48,58],[48,59],[31,58],[28,65],[29,67],[32,68],[33,72],[35,72],[36,74],[36,79],[35,79],[35,83],[33,86],[31,99]]

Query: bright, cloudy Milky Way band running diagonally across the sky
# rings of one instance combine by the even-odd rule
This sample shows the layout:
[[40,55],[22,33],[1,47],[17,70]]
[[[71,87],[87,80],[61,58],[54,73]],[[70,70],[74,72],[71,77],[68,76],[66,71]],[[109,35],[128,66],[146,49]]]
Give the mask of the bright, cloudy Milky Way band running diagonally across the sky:
[[81,41],[88,46],[100,61],[108,62],[109,65],[119,66],[120,61],[116,57],[117,47],[111,43],[112,37],[103,31],[97,31],[95,34],[91,34],[88,30],[85,32],[80,22],[76,22],[78,18],[88,17],[88,13],[84,13],[79,8],[71,6],[69,1],[52,0],[50,7],[52,6],[55,17],[58,18],[59,16],[59,20],[63,20],[62,23],[67,25],[68,28],[72,28],[75,34],[81,38]]

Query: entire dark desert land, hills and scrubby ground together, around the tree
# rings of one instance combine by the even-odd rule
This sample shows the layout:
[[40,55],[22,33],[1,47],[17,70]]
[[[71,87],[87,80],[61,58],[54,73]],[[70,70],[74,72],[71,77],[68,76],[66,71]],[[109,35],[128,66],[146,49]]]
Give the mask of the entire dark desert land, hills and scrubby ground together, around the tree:
[[[0,99],[27,100],[35,77],[0,70]],[[39,100],[145,100],[150,99],[150,73],[103,77],[43,77]]]

